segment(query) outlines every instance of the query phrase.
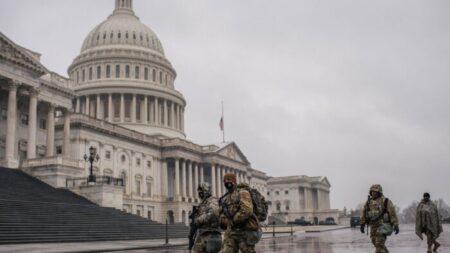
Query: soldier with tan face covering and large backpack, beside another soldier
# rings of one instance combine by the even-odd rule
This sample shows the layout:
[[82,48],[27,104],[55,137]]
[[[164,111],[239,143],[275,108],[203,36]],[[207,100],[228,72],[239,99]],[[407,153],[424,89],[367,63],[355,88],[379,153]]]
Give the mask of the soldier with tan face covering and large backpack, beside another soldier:
[[[238,188],[233,173],[224,175],[227,193],[219,200],[220,222],[225,230],[220,253],[255,253],[260,239],[259,222],[253,213],[252,198],[248,190]],[[248,186],[243,184],[242,186]]]

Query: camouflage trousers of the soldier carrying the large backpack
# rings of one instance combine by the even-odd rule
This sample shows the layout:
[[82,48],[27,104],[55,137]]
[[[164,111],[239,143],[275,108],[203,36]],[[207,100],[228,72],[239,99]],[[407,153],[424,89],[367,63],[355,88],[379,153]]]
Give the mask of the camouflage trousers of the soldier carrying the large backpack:
[[226,231],[220,253],[256,253],[255,245],[247,244],[245,231]]

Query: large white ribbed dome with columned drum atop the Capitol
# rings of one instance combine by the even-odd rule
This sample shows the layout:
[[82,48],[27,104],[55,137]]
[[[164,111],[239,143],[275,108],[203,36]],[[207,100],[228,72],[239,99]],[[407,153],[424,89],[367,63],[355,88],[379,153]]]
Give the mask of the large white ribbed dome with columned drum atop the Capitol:
[[162,138],[185,138],[186,101],[156,34],[134,14],[132,0],[85,38],[68,68],[76,113]]

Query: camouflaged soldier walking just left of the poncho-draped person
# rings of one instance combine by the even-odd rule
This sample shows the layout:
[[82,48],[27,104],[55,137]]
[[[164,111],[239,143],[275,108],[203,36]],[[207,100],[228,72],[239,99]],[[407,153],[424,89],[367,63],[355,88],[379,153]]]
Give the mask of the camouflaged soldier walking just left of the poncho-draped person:
[[400,232],[398,227],[395,206],[391,200],[383,196],[381,185],[370,187],[369,198],[364,205],[361,214],[361,233],[364,233],[365,225],[370,227],[370,239],[375,246],[375,253],[389,253],[386,248],[386,238]]

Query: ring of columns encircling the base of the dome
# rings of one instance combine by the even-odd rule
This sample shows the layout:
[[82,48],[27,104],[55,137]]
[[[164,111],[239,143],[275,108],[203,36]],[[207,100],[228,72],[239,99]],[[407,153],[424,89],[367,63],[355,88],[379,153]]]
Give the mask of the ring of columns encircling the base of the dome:
[[115,123],[141,123],[184,131],[184,107],[172,100],[135,93],[80,96],[75,111]]

